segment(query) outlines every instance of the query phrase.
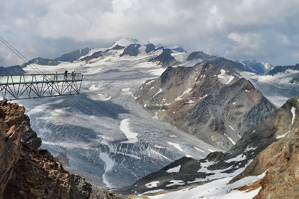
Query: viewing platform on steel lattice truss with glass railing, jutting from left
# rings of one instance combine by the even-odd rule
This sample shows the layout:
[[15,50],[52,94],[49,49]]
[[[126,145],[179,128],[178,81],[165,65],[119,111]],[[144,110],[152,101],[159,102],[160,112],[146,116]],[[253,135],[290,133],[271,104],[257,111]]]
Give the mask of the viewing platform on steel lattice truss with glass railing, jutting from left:
[[83,74],[0,75],[0,92],[10,100],[80,93]]

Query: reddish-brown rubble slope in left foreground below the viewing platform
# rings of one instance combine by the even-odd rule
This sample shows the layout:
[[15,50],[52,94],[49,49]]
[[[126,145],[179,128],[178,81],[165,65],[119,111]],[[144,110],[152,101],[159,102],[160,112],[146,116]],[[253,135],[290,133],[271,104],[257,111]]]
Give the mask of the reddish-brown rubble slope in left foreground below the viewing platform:
[[64,170],[31,129],[25,108],[0,102],[0,198],[125,198]]

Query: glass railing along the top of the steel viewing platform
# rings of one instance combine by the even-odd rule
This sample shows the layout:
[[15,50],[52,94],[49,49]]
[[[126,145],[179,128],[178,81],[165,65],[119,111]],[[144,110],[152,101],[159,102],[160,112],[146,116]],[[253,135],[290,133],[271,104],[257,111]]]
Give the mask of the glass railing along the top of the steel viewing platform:
[[31,82],[57,82],[82,81],[82,74],[42,74],[42,75],[0,75],[0,83],[31,83]]

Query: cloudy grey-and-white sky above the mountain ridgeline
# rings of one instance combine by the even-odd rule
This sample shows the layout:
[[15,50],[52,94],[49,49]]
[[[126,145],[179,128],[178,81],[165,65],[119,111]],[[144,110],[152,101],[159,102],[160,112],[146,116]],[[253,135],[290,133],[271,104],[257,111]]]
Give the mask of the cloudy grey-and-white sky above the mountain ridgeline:
[[[299,0],[2,1],[0,36],[28,60],[120,38],[231,60],[299,63]],[[0,66],[22,64],[3,43]]]

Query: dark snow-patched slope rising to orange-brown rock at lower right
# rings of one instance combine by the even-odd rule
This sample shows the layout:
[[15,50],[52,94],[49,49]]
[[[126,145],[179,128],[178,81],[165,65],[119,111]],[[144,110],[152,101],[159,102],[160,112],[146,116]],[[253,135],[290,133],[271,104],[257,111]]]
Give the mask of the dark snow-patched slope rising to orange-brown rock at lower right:
[[[183,189],[187,195],[188,191],[195,188],[194,186],[200,187],[213,180],[216,180],[216,183],[217,179],[223,178],[234,183],[246,177],[261,175],[262,180],[239,189],[255,190],[262,187],[256,198],[296,198],[298,130],[299,97],[294,97],[268,119],[251,128],[227,152],[212,152],[205,159],[198,161],[183,157],[116,192],[125,194],[148,192],[149,195],[150,192],[155,192],[157,195],[156,192],[164,194]],[[267,172],[263,174],[265,171]],[[225,189],[225,186],[219,184],[216,189]],[[202,194],[198,192],[197,197],[202,197]],[[163,195],[159,198],[163,198]]]

